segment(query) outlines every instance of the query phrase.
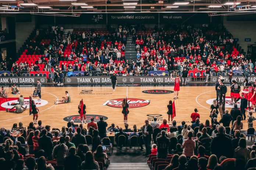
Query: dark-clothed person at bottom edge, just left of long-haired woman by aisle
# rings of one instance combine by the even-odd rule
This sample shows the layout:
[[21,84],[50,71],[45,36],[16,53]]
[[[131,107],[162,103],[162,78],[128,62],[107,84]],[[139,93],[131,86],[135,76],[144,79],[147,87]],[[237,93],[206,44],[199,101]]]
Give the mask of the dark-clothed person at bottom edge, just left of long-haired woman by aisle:
[[69,155],[64,160],[64,170],[80,170],[81,169],[81,158],[76,154],[75,147],[70,147],[68,150]]

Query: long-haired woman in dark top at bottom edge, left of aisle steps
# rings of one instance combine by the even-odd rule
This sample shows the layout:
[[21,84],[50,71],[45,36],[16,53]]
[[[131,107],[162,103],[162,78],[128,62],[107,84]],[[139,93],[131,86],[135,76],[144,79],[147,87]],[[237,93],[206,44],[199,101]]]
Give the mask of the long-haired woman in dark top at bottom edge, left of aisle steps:
[[86,152],[85,160],[82,162],[83,170],[100,170],[98,162],[94,160],[93,154],[91,151]]

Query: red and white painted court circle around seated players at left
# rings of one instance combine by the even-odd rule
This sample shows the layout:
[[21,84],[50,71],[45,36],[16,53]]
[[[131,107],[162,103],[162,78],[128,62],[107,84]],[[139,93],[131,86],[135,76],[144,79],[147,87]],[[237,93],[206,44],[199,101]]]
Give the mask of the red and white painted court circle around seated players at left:
[[[15,100],[13,100],[13,99],[15,99]],[[43,99],[41,99],[41,101],[38,101],[37,99],[33,99],[33,101],[35,102],[36,107],[45,106],[48,103],[47,100],[43,100]],[[7,98],[7,100],[1,104],[0,110],[4,111],[5,108],[13,108],[14,105],[12,105],[12,104],[15,104],[15,103],[19,103],[17,101],[17,98]],[[26,97],[24,100],[23,107],[25,107],[25,106],[27,106],[27,108],[29,108],[29,98],[28,97]]]

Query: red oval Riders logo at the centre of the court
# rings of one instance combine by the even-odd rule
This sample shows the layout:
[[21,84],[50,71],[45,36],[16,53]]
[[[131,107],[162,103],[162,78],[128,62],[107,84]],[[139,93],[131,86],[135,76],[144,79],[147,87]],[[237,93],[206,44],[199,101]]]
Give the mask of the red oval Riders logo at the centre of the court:
[[[122,100],[123,99],[107,100],[102,105],[116,107],[116,108],[122,108]],[[129,104],[129,108],[137,108],[137,107],[143,107],[143,106],[149,105],[150,100],[128,98],[127,103]]]

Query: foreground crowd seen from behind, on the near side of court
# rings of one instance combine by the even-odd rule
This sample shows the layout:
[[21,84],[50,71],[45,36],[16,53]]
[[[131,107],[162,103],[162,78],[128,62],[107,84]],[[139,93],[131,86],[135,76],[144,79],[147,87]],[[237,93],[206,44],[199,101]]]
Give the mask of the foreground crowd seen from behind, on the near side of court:
[[[225,114],[230,115],[228,110]],[[38,122],[38,126],[31,122],[27,128],[22,122],[18,125],[14,123],[12,129],[0,128],[0,140],[3,142],[0,146],[0,169],[54,170],[55,167],[64,170],[99,170],[101,164],[107,168],[109,158],[102,139],[110,131],[115,133],[113,145],[117,148],[126,144],[131,146],[131,138],[137,137],[142,139],[138,142],[141,151],[145,146],[144,156],[153,154],[157,159],[171,158],[166,170],[255,170],[256,142],[246,146],[246,136],[237,123],[239,120],[241,123],[241,116],[237,116],[232,124],[234,130],[217,121],[200,123],[197,112],[192,113],[191,118],[192,124],[182,121],[181,125],[177,125],[173,121],[169,125],[165,119],[160,124],[154,117],[151,122],[145,120],[142,127],[134,125],[133,129],[128,124],[119,127],[112,123],[108,127],[103,117],[97,123],[91,118],[87,129],[74,121],[68,122],[67,127],[63,126],[61,130],[44,126],[42,121]],[[222,119],[225,119],[224,116]],[[230,123],[233,120],[226,120],[226,124],[227,121]],[[13,137],[13,130],[23,132],[17,140]],[[119,138],[122,136],[125,142],[121,144]]]

